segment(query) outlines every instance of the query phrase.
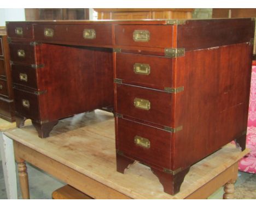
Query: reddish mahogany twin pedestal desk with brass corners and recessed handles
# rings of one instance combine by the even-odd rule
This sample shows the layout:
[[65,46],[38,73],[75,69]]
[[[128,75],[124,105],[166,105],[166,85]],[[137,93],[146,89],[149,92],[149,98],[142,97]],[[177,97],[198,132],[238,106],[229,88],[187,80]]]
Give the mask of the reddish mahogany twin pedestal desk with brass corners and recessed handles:
[[[189,167],[245,149],[254,19],[7,22],[16,124],[115,115],[117,171],[149,166],[169,194]],[[39,139],[39,138],[38,138]]]

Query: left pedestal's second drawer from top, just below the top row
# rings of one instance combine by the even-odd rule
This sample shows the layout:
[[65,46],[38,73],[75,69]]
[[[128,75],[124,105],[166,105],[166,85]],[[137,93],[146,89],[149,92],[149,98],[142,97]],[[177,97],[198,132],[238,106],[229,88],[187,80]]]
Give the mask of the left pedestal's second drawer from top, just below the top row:
[[34,46],[30,44],[9,44],[10,59],[16,63],[35,64]]

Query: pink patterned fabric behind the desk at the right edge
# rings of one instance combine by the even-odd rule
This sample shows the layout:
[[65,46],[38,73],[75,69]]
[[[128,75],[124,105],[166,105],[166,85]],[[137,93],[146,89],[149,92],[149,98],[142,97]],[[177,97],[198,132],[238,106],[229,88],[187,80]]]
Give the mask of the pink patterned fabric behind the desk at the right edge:
[[252,67],[246,148],[251,151],[240,160],[238,169],[256,174],[256,66]]

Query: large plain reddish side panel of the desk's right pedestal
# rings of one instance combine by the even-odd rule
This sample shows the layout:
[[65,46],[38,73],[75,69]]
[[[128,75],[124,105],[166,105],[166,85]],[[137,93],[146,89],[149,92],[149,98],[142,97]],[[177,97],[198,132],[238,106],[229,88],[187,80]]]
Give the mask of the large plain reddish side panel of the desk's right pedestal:
[[246,43],[177,58],[176,83],[184,91],[176,94],[174,122],[183,130],[174,134],[173,169],[199,161],[246,131],[251,63],[252,46]]

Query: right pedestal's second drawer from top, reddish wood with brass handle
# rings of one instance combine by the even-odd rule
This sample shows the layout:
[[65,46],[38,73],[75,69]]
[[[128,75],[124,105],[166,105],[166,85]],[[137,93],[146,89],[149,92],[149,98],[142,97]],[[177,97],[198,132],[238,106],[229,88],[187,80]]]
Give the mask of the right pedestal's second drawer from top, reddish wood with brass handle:
[[117,78],[124,83],[164,90],[172,86],[172,59],[117,53]]

